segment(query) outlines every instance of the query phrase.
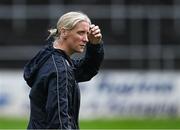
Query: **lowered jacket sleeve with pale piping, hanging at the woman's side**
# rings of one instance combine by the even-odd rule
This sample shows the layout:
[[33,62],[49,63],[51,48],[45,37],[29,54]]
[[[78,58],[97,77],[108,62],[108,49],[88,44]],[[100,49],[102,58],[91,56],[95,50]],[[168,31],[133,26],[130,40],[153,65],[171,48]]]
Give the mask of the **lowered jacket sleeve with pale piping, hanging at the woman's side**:
[[[54,62],[54,61],[53,61]],[[68,129],[68,89],[66,69],[54,62],[56,72],[48,78],[46,102],[47,126],[51,129]]]

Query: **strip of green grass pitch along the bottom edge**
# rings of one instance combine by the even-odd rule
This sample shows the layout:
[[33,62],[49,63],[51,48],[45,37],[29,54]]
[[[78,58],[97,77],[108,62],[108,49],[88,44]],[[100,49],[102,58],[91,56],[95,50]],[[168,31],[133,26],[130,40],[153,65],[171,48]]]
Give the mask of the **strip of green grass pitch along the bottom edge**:
[[[27,119],[0,118],[0,129],[26,129]],[[81,120],[81,129],[180,129],[179,118]]]

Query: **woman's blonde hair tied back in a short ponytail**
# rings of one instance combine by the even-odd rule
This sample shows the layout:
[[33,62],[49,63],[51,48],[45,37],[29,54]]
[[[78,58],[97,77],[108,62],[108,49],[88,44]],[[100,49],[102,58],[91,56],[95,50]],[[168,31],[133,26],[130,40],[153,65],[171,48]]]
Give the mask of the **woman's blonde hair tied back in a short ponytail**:
[[81,21],[86,21],[91,24],[91,20],[89,19],[89,17],[82,12],[72,11],[65,13],[59,18],[56,28],[48,30],[50,33],[48,38],[54,37],[54,39],[58,39],[61,34],[62,27],[67,30],[72,30],[76,26],[76,24]]

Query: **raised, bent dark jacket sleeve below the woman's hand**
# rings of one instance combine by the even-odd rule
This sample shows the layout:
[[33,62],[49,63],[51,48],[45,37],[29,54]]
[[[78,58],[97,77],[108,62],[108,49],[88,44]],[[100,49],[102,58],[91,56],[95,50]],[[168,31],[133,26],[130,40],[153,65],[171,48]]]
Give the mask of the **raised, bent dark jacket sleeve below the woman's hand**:
[[87,44],[85,57],[73,60],[75,66],[75,77],[78,82],[88,81],[98,73],[104,58],[103,43]]

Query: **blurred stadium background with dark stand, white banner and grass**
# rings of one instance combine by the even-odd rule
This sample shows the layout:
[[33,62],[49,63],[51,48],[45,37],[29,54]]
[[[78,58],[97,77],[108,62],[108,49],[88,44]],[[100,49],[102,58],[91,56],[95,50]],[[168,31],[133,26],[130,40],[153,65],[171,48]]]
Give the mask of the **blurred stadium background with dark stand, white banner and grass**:
[[81,83],[81,128],[180,128],[179,0],[1,0],[0,128],[25,129],[23,66],[65,12],[100,26],[105,60]]

